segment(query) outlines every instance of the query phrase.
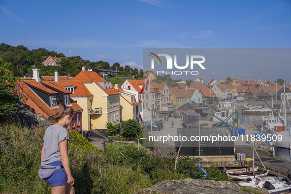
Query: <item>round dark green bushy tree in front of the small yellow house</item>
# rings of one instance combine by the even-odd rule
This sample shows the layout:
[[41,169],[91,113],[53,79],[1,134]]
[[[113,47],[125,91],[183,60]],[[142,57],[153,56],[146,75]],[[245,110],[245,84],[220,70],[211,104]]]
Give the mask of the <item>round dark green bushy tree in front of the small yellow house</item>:
[[121,129],[123,130],[122,136],[132,140],[137,137],[140,132],[140,127],[137,121],[134,119],[129,119],[121,124]]

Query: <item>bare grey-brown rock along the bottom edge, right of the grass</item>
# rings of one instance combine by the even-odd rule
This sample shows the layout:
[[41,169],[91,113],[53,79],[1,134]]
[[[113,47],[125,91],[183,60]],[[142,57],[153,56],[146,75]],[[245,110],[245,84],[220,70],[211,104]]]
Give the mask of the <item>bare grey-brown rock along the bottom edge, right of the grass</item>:
[[228,181],[181,179],[167,180],[135,194],[269,194],[265,189],[242,187]]

